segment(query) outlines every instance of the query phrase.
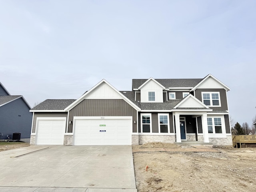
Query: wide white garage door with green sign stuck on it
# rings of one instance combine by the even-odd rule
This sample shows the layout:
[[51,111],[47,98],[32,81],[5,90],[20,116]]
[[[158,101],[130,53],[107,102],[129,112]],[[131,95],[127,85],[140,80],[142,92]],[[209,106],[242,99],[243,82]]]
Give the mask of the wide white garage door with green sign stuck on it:
[[131,145],[131,119],[75,119],[74,145]]

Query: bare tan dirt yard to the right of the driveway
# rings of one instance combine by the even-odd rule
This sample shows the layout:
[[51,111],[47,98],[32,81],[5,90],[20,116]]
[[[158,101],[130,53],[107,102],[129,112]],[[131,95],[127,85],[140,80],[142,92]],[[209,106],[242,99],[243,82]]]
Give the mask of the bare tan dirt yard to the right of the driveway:
[[132,148],[142,151],[133,152],[138,192],[256,191],[256,148],[174,152],[194,150],[195,147],[163,143]]

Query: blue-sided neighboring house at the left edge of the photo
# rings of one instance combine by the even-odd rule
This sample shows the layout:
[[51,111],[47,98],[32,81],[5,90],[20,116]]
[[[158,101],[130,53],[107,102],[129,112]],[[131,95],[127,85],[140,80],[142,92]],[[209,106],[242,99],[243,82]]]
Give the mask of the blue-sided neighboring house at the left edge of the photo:
[[11,96],[0,83],[0,141],[12,140],[20,133],[20,140],[30,142],[32,112],[23,96]]

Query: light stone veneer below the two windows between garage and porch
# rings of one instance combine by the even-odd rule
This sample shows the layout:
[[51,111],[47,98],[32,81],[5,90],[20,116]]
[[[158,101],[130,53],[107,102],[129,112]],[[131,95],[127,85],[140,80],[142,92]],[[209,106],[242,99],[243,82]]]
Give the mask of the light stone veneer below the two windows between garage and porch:
[[148,142],[174,143],[175,135],[139,135],[139,144]]

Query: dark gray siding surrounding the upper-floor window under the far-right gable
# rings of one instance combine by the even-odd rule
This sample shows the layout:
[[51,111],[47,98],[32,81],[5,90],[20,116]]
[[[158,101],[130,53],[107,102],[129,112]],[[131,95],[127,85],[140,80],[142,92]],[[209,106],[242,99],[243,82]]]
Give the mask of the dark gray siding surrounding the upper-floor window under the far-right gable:
[[228,102],[226,90],[224,89],[196,89],[196,98],[202,102],[202,92],[220,92],[220,104],[221,107],[210,107],[213,111],[225,111],[228,110]]

